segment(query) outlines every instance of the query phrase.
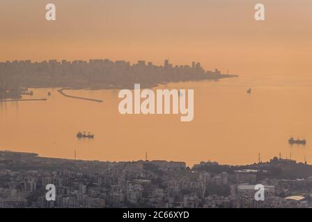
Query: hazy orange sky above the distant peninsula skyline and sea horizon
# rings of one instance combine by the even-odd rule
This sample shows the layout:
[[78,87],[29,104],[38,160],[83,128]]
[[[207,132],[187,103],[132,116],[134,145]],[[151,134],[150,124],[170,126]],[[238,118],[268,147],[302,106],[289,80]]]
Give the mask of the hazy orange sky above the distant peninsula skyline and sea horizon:
[[[45,5],[56,4],[56,21]],[[253,19],[265,4],[266,21]],[[239,74],[310,74],[310,0],[1,0],[0,61],[200,61]]]

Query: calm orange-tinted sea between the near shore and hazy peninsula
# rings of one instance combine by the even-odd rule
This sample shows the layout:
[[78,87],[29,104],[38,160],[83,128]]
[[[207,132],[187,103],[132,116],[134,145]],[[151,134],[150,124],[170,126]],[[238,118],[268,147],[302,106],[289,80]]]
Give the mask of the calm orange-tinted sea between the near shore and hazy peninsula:
[[[120,115],[118,90],[65,91],[104,103],[70,99],[56,89],[33,89],[48,101],[0,103],[0,149],[82,160],[214,160],[246,164],[274,156],[312,163],[312,78],[240,76],[218,82],[175,83],[194,89],[194,120],[178,115]],[[247,94],[247,89],[253,89]],[[52,92],[52,96],[47,96]],[[24,96],[29,98],[29,96]],[[90,131],[95,139],[77,139]],[[306,146],[290,146],[290,136]]]

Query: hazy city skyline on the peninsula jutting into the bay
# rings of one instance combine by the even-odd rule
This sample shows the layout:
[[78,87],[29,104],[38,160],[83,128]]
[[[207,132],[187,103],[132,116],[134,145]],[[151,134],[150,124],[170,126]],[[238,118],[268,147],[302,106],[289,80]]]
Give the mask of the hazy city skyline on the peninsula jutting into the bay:
[[139,60],[136,64],[124,60],[31,60],[0,62],[0,99],[20,99],[25,88],[67,87],[72,89],[122,89],[133,88],[134,83],[142,87],[159,84],[191,81],[218,80],[237,77],[221,74],[218,69],[209,71],[200,62],[192,65],[173,66],[169,60],[163,66]]

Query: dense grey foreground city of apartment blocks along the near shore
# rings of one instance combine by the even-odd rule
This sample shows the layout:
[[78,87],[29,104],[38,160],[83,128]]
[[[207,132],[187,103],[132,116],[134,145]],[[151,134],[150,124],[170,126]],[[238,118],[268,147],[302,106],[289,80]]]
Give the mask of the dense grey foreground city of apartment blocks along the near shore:
[[[56,187],[56,200],[45,197]],[[255,185],[265,200],[254,198]],[[0,207],[311,207],[312,165],[274,157],[230,166],[139,160],[100,162],[0,151]]]

